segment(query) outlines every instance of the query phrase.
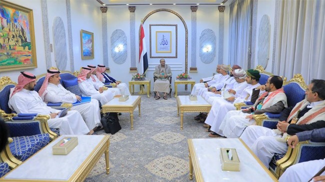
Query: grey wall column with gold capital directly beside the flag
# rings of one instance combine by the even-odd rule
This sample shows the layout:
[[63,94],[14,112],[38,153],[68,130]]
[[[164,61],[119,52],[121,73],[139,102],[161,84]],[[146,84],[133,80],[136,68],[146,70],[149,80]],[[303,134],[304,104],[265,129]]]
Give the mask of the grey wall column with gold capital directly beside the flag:
[[135,6],[128,6],[130,11],[130,72],[137,72],[135,55]]

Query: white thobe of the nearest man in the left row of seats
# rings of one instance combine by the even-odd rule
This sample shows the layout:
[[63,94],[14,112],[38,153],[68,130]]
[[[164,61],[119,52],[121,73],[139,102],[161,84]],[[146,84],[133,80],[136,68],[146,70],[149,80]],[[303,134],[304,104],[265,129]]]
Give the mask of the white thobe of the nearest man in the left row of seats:
[[[13,88],[10,90],[10,95]],[[46,106],[36,91],[22,89],[15,93],[8,102],[11,110],[16,113],[37,113],[49,115],[60,110]],[[50,128],[59,128],[60,135],[84,135],[89,133],[87,125],[77,111],[68,111],[67,115],[61,118],[47,120]]]

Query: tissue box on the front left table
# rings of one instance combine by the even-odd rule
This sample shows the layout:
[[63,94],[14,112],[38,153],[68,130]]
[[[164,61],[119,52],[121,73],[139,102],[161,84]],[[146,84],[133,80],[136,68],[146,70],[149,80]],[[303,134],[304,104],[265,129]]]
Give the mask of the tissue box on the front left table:
[[[63,139],[68,141],[64,143]],[[64,137],[63,139],[52,147],[53,155],[67,155],[78,145],[77,137]]]

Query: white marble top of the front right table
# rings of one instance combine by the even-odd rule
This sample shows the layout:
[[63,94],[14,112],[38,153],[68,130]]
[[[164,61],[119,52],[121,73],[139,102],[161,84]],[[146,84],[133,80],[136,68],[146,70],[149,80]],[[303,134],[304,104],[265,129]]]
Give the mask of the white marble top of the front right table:
[[[190,139],[204,182],[273,182],[275,178],[261,166],[239,139]],[[222,171],[220,148],[236,149],[240,172]]]

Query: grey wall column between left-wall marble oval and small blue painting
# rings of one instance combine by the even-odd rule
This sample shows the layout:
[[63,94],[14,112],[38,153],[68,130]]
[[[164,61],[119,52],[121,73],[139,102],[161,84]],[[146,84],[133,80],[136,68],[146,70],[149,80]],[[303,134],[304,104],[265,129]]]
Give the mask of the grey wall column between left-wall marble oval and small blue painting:
[[65,4],[66,4],[66,19],[67,19],[67,39],[68,39],[69,57],[70,57],[70,71],[73,73],[74,72],[74,58],[73,58],[73,41],[72,41],[70,0],[65,0]]

